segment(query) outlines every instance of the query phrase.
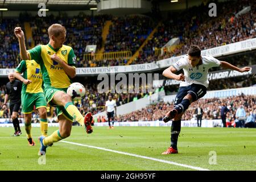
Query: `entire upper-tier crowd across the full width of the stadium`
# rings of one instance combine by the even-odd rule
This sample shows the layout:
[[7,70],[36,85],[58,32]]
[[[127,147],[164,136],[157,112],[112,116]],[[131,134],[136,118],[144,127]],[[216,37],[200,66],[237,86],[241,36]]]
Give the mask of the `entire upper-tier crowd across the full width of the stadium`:
[[[217,17],[208,15],[208,6],[191,7],[180,13],[170,13],[167,19],[162,21],[150,17],[150,15],[131,15],[115,17],[110,15],[89,16],[80,13],[77,16],[68,17],[61,13],[58,16],[49,15],[46,18],[20,15],[19,19],[1,19],[0,23],[0,68],[15,68],[19,63],[18,42],[13,36],[13,27],[21,26],[30,19],[32,39],[37,44],[47,44],[47,27],[52,23],[63,24],[67,28],[66,44],[72,46],[77,56],[77,67],[103,67],[114,65],[125,65],[127,59],[110,60],[86,60],[84,58],[87,45],[102,46],[102,29],[106,20],[112,20],[109,34],[105,42],[105,52],[131,51],[135,53],[146,40],[150,32],[156,27],[157,31],[149,40],[138,57],[131,64],[151,63],[172,56],[183,55],[191,44],[197,44],[201,49],[221,46],[245,39],[256,37],[256,3],[254,1],[242,0],[219,2]],[[236,14],[250,6],[251,10],[245,14]],[[182,14],[182,16],[181,16]],[[191,18],[192,17],[192,18]],[[188,21],[188,19],[191,19]],[[209,28],[210,27],[210,28]],[[24,28],[23,28],[24,29]],[[163,55],[155,55],[155,48],[162,48],[172,38],[179,38],[179,48],[172,52],[164,51]],[[27,40],[28,46],[32,40]]]

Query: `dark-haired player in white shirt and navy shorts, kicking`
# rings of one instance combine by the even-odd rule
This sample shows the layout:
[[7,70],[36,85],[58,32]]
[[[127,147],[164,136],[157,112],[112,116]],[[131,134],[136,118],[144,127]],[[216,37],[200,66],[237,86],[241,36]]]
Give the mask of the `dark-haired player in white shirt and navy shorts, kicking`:
[[[250,67],[238,68],[226,61],[220,61],[209,55],[201,55],[199,46],[193,45],[188,50],[188,55],[183,56],[175,64],[163,71],[163,76],[180,82],[179,92],[174,101],[174,109],[168,111],[163,118],[164,122],[172,119],[171,146],[162,154],[177,154],[177,139],[180,133],[181,117],[192,102],[199,100],[207,93],[209,85],[208,71],[212,67],[233,69],[238,72],[248,72]],[[176,75],[175,72],[183,69]]]

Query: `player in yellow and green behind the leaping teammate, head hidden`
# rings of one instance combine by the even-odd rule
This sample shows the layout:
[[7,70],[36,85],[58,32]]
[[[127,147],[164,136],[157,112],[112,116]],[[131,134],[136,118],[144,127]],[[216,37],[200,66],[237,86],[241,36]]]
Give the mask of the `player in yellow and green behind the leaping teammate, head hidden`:
[[[23,77],[21,74],[23,73]],[[46,100],[42,89],[42,72],[40,65],[35,60],[22,60],[15,69],[14,77],[22,81],[22,112],[24,114],[24,124],[27,133],[27,140],[30,146],[34,146],[35,142],[31,134],[32,111],[35,108],[40,116],[41,134],[46,137],[48,130]]]

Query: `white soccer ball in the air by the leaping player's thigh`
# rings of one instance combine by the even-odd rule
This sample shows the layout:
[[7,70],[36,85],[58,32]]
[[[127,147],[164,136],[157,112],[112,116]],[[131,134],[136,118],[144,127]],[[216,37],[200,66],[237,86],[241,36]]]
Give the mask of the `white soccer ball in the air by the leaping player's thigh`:
[[73,101],[81,100],[85,95],[84,85],[75,82],[68,86],[67,94],[72,97]]

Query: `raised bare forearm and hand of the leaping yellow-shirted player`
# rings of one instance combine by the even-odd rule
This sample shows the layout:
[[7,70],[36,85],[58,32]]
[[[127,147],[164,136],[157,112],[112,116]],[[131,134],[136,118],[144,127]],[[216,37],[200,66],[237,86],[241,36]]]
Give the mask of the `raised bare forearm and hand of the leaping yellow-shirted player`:
[[20,51],[20,57],[23,60],[29,60],[30,56],[27,53],[26,44],[25,44],[25,37],[24,32],[22,31],[22,28],[15,27],[14,28],[14,34],[16,38],[19,40],[19,51]]

